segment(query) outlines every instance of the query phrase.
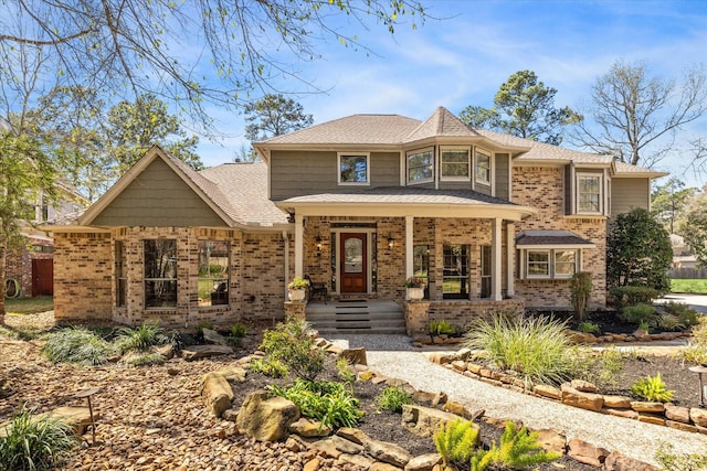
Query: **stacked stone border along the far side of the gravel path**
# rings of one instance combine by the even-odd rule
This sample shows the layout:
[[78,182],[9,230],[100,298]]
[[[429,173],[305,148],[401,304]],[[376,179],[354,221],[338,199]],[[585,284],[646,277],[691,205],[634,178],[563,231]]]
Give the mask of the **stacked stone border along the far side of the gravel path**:
[[433,353],[430,361],[464,376],[535,397],[555,400],[568,406],[625,417],[642,422],[661,425],[683,431],[707,435],[707,409],[680,407],[667,403],[634,400],[625,396],[602,395],[591,383],[573,379],[561,387],[536,385],[532,390],[517,376],[499,373],[468,361],[471,350]]

